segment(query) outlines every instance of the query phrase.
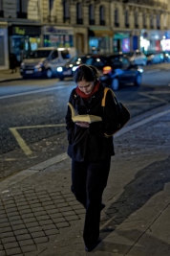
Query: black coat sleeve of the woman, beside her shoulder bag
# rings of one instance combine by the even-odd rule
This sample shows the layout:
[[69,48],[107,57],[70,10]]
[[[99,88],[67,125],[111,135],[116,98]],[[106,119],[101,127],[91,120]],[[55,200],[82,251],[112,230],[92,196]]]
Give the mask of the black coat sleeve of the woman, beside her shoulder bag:
[[104,134],[112,135],[117,128],[117,106],[115,105],[112,92],[108,91],[106,95],[104,113],[103,113],[103,131]]

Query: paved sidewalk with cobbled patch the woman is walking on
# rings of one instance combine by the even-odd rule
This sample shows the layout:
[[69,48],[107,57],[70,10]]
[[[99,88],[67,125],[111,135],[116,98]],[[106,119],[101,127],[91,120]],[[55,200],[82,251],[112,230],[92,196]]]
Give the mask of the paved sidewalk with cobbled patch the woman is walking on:
[[[125,132],[126,131],[126,132]],[[91,255],[170,255],[170,108],[121,129]],[[0,256],[84,256],[66,153],[0,183]]]

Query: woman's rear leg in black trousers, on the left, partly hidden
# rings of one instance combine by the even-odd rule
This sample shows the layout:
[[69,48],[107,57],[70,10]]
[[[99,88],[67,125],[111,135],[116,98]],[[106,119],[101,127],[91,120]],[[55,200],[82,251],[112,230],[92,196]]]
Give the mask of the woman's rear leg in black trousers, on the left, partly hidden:
[[86,179],[88,164],[72,160],[72,187],[75,198],[86,208]]

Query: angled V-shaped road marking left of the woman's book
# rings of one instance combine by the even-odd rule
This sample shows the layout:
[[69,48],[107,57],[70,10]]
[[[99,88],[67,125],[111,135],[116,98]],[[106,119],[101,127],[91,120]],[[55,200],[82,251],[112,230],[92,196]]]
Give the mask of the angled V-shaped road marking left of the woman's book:
[[66,124],[43,125],[43,126],[30,126],[30,127],[16,127],[16,128],[10,128],[10,130],[11,130],[11,133],[13,134],[15,140],[19,144],[20,148],[25,152],[25,154],[27,156],[31,156],[32,155],[31,149],[29,148],[29,146],[27,146],[26,142],[21,137],[21,135],[19,134],[17,129],[24,129],[24,128],[25,129],[26,128],[56,128],[56,127],[65,127],[65,126],[66,126]]

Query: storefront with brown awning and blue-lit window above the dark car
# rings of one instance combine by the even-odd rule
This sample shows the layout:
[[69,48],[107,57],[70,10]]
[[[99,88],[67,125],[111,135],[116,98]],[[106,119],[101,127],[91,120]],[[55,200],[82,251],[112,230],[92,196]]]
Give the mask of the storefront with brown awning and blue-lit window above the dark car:
[[114,36],[111,28],[90,27],[89,28],[89,52],[90,53],[110,53],[112,52]]

